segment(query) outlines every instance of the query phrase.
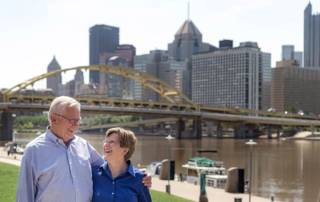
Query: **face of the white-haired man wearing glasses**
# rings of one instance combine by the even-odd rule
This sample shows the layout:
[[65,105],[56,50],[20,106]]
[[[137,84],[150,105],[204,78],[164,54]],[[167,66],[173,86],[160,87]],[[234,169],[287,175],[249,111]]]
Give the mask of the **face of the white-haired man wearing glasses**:
[[75,106],[66,107],[62,113],[52,113],[52,130],[64,142],[73,138],[80,125],[80,110]]

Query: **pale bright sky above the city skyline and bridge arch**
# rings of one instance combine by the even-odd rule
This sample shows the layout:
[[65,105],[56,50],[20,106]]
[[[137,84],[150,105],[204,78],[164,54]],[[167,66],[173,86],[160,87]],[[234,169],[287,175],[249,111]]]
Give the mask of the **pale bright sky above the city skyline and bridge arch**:
[[[284,44],[303,51],[309,0],[189,2],[190,19],[204,42],[255,41],[272,54],[272,66]],[[320,1],[311,3],[320,12]],[[0,88],[45,73],[53,56],[62,68],[88,65],[89,28],[95,24],[119,27],[120,44],[133,44],[139,55],[167,49],[187,16],[188,0],[0,0]],[[73,74],[63,75],[63,82]],[[45,81],[35,85],[44,87]]]

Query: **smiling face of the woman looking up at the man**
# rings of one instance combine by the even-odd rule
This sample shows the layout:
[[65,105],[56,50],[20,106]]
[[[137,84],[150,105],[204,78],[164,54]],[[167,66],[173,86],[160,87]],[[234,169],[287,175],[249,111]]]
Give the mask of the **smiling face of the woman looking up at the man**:
[[120,147],[119,135],[117,133],[112,133],[104,140],[103,152],[104,158],[107,161],[124,161],[124,156],[128,150],[128,148]]

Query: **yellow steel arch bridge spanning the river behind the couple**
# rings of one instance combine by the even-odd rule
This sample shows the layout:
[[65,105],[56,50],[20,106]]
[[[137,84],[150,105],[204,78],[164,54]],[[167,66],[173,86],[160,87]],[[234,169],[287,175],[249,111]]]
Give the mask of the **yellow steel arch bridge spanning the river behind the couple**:
[[[54,99],[54,97],[50,95],[21,94],[20,91],[22,89],[34,85],[34,83],[39,80],[55,76],[62,72],[82,69],[96,70],[135,80],[141,83],[145,88],[157,92],[163,98],[163,101],[161,102],[150,102],[112,99],[94,95],[76,97],[76,99],[82,104],[82,111],[84,113],[137,114],[143,116],[152,115],[168,118],[171,117],[178,119],[178,125],[183,124],[184,119],[193,119],[195,120],[195,125],[197,125],[194,129],[194,132],[197,133],[196,137],[201,136],[201,121],[203,120],[212,121],[218,124],[232,123],[237,126],[266,125],[312,128],[320,126],[320,120],[317,117],[198,105],[193,103],[179,90],[144,72],[124,67],[93,65],[73,67],[45,73],[2,91],[0,93],[0,111],[2,111],[0,140],[6,139],[5,134],[10,132],[12,133],[12,126],[6,126],[6,124],[10,122],[10,118],[7,116],[11,113],[19,113],[21,111],[46,111],[48,110],[50,102]],[[179,127],[183,128],[183,126],[178,126],[177,128]]]

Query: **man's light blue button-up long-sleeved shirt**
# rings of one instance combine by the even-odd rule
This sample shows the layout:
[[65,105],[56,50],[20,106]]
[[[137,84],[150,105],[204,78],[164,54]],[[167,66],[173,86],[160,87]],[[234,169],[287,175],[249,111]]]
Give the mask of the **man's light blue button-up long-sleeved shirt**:
[[91,166],[103,159],[83,138],[66,145],[49,129],[31,141],[21,161],[17,202],[90,202]]

